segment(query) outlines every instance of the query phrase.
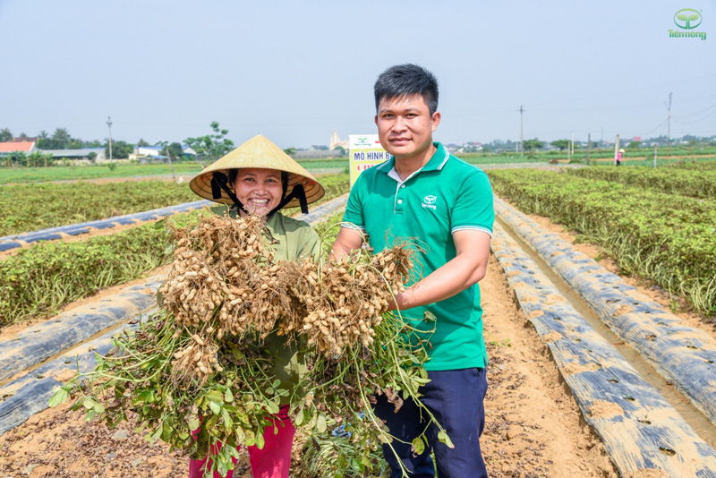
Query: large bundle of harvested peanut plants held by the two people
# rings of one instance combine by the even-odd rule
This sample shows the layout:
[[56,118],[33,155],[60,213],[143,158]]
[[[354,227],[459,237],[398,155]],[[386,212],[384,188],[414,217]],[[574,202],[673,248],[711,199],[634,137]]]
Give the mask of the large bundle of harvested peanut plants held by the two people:
[[[367,473],[375,450],[393,440],[371,402],[385,395],[399,408],[428,381],[426,340],[388,312],[413,273],[411,244],[375,255],[361,249],[344,261],[276,260],[261,218],[213,216],[172,232],[175,260],[159,312],[136,333],[115,336],[96,370],[58,388],[50,405],[72,396],[74,409],[110,427],[131,412],[147,440],[209,455],[211,469],[226,473],[237,447],[263,447],[264,429],[277,430],[272,415],[287,404],[303,433],[347,427],[352,464]],[[306,369],[294,386],[274,375],[268,344],[276,340]],[[439,427],[423,410],[426,428]],[[423,443],[413,441],[416,452]]]

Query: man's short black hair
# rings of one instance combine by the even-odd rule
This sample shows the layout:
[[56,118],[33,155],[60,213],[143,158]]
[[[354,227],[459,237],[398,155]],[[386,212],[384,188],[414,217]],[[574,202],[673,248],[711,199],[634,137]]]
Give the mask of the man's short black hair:
[[430,116],[438,111],[438,79],[417,64],[396,64],[383,73],[373,87],[375,110],[380,100],[421,95],[430,109]]

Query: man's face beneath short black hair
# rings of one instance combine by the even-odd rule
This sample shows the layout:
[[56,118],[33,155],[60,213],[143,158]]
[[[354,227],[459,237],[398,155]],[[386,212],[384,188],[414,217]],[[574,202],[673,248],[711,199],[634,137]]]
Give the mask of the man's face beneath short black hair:
[[429,149],[432,132],[440,124],[440,114],[430,115],[422,95],[382,98],[375,116],[383,148],[396,158],[411,158]]

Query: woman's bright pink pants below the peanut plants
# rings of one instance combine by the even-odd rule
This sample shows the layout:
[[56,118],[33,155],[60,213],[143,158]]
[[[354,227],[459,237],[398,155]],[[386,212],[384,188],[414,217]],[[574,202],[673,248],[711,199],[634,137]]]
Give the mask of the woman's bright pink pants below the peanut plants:
[[[288,468],[291,465],[291,446],[294,444],[296,431],[294,423],[288,417],[288,406],[281,407],[278,414],[274,415],[273,423],[276,425],[277,434],[274,434],[273,426],[268,426],[263,431],[263,438],[266,441],[263,448],[249,447],[253,478],[288,478]],[[218,453],[221,446],[220,442],[217,443],[213,448],[214,454]],[[204,478],[204,465],[208,460],[209,457],[203,460],[189,460],[189,478]],[[235,459],[234,465],[236,465]],[[230,470],[226,477],[214,472],[214,478],[234,478],[234,472]]]

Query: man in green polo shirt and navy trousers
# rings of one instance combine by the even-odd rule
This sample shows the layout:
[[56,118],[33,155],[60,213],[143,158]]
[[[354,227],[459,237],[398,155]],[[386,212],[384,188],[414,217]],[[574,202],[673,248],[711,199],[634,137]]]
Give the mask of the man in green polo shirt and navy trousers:
[[417,260],[423,278],[397,294],[391,307],[430,342],[425,364],[430,383],[421,388],[421,401],[454,444],[440,443],[432,426],[426,431],[428,446],[414,456],[411,442],[426,424],[419,407],[404,403],[396,413],[386,397],[377,397],[375,413],[398,439],[391,443],[396,453],[388,446],[383,453],[393,477],[402,476],[400,462],[416,478],[433,478],[436,465],[439,478],[487,476],[479,441],[487,355],[477,282],[490,255],[490,182],[482,170],[432,141],[440,124],[432,73],[414,64],[396,65],[380,74],[374,92],[380,144],[393,158],[358,177],[333,255],[345,257],[360,248],[365,235],[375,252],[394,238],[421,242]]

